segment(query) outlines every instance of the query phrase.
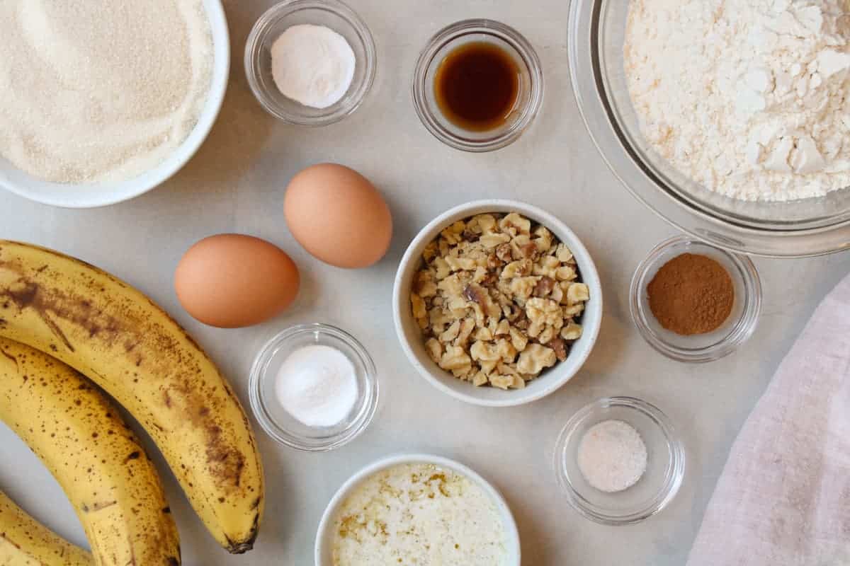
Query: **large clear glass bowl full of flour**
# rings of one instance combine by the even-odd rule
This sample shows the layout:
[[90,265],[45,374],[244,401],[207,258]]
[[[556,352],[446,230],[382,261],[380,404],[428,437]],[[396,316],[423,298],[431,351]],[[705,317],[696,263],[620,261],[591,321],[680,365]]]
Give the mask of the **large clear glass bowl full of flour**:
[[697,238],[777,257],[850,249],[842,14],[733,4],[573,0],[587,129],[626,188]]

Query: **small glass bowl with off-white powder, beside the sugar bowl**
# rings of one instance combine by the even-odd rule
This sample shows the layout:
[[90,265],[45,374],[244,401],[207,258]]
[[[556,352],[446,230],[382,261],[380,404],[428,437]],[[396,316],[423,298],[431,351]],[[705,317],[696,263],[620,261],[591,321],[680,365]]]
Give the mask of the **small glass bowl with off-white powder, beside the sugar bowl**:
[[260,16],[245,46],[245,72],[269,114],[327,126],[360,107],[375,81],[369,28],[339,0],[286,0]]

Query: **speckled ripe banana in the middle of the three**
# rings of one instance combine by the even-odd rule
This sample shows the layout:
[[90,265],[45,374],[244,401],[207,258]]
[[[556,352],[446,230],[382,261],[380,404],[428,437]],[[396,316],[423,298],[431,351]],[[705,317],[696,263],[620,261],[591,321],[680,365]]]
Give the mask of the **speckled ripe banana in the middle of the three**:
[[156,468],[88,379],[0,338],[0,420],[54,474],[98,566],[176,566],[177,527]]

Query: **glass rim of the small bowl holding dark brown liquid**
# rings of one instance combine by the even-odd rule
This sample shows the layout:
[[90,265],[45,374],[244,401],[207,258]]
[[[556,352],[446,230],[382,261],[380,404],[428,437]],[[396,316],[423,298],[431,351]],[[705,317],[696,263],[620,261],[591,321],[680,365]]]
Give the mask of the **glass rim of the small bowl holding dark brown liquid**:
[[[521,117],[511,129],[499,136],[480,141],[458,137],[445,127],[440,126],[427,103],[428,85],[426,84],[426,78],[428,77],[428,70],[434,64],[437,53],[451,42],[463,36],[473,34],[494,36],[513,48],[519,54],[525,70],[529,74],[531,91],[529,94],[529,103],[526,104],[522,110]],[[544,95],[543,67],[534,46],[531,45],[522,33],[510,25],[485,18],[460,20],[446,25],[428,39],[425,48],[422,49],[422,52],[419,53],[419,57],[416,59],[413,81],[411,83],[411,93],[416,115],[419,116],[422,125],[425,126],[433,137],[436,137],[451,148],[462,151],[472,153],[495,151],[519,139],[540,113]]]

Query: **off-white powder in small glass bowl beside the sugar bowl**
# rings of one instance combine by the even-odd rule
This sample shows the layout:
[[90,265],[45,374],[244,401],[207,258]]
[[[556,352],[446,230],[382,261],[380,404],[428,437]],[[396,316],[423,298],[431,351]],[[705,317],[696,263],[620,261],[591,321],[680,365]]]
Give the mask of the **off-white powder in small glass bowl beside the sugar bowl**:
[[345,37],[324,25],[293,25],[271,46],[271,74],[286,98],[327,108],[354,80],[354,51]]

